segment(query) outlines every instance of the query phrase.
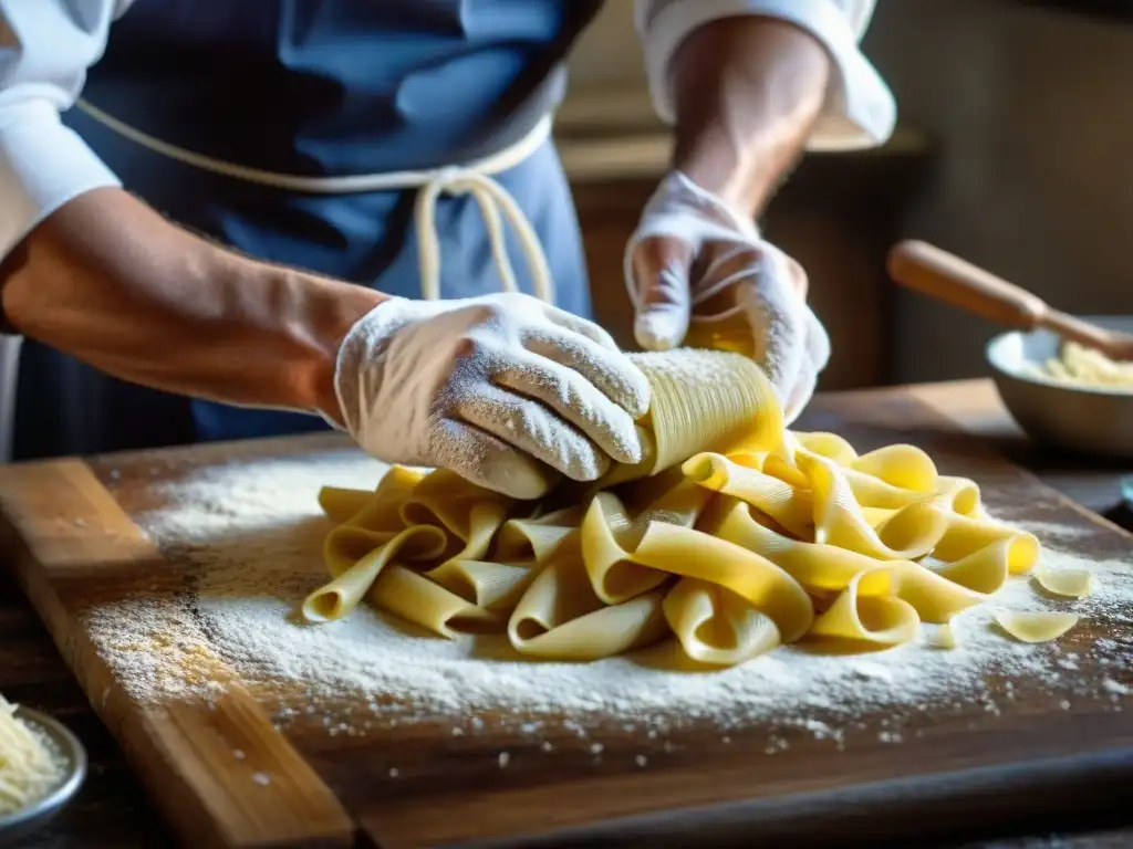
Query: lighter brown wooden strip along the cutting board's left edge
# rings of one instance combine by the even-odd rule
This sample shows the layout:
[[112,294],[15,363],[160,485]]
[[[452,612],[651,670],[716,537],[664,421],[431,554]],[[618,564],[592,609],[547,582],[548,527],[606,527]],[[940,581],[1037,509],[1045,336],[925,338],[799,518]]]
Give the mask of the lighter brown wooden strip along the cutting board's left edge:
[[[184,575],[78,460],[0,475],[5,551],[103,722],[152,796],[196,846],[349,846],[338,798],[228,676],[223,689],[165,705],[130,701],[84,629],[84,614],[135,590],[178,592]],[[232,763],[235,751],[249,753]],[[274,780],[253,780],[254,769]],[[241,769],[242,766],[242,769]]]

